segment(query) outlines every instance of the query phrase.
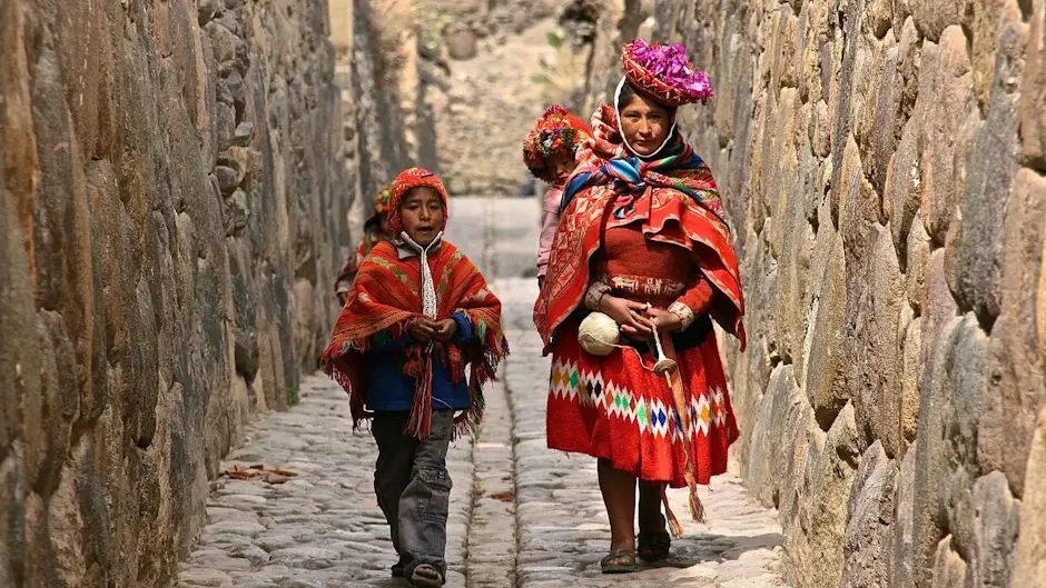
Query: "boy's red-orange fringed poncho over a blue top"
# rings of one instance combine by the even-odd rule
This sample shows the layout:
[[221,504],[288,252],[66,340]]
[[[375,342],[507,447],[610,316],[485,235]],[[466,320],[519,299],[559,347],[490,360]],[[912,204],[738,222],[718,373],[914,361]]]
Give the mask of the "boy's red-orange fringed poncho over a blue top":
[[[455,383],[465,378],[465,365],[471,366],[472,406],[455,419],[461,431],[480,421],[483,385],[494,377],[497,365],[509,353],[501,326],[501,301],[472,261],[453,245],[443,242],[430,253],[428,263],[436,280],[436,320],[461,312],[472,322],[476,340],[464,348],[452,342],[436,343],[432,352],[426,352],[420,343],[405,348],[403,373],[417,381],[408,432],[418,438],[428,435],[432,416],[433,356],[446,363]],[[421,282],[418,258],[399,260],[396,247],[388,241],[375,245],[359,266],[330,345],[323,355],[324,370],[352,399],[354,427],[373,416],[365,408],[367,367],[364,356],[376,337],[398,339],[411,320],[422,316]]]

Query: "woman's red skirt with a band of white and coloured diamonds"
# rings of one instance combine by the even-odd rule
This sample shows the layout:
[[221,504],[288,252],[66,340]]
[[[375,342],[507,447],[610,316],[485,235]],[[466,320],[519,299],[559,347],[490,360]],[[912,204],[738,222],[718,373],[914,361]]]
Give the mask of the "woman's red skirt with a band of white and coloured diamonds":
[[727,471],[727,451],[738,438],[716,332],[699,346],[678,351],[690,431],[677,416],[672,389],[658,376],[650,353],[615,349],[606,357],[586,353],[578,325],[568,319],[552,342],[547,440],[551,449],[609,460],[615,469],[647,481],[687,486],[689,444],[697,484]]

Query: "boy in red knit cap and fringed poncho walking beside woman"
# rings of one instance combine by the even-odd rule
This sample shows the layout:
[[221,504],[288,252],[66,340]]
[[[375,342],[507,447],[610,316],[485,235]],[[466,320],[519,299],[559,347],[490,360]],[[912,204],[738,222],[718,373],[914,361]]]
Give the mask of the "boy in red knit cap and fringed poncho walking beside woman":
[[349,393],[354,426],[373,418],[374,490],[399,556],[393,576],[422,587],[446,577],[450,441],[478,422],[483,383],[509,352],[501,301],[443,240],[446,205],[435,173],[413,168],[396,178],[393,239],[359,265],[324,352],[327,373]]

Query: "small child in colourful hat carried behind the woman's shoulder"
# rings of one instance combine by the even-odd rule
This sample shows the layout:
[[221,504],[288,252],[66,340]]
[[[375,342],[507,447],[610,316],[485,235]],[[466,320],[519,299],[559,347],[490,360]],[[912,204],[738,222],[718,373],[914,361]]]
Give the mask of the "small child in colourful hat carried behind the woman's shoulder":
[[561,106],[551,106],[537,119],[523,143],[523,162],[539,180],[552,186],[541,207],[541,237],[537,246],[537,285],[544,285],[552,251],[552,238],[560,223],[563,186],[578,162],[574,156],[592,136],[589,127]]

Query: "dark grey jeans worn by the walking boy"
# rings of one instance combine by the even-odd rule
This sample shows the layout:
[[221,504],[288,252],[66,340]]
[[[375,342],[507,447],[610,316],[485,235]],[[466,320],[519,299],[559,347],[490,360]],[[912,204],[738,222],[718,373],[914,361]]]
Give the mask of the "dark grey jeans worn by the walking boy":
[[385,514],[404,574],[428,564],[446,576],[446,519],[451,475],[446,452],[454,433],[454,411],[433,410],[428,438],[407,437],[407,412],[377,412],[372,432],[377,441],[374,492]]

